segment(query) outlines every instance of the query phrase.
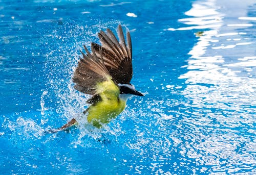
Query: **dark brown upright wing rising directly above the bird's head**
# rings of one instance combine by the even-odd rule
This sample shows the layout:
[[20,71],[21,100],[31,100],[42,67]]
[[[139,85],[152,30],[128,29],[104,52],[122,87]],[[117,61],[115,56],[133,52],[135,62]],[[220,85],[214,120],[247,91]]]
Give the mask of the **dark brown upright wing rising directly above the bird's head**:
[[100,31],[98,36],[102,46],[93,43],[92,47],[97,56],[102,51],[104,65],[113,80],[116,83],[129,84],[133,76],[131,36],[130,32],[127,32],[126,44],[121,25],[118,26],[117,33],[119,42],[110,29],[107,29],[106,33]]

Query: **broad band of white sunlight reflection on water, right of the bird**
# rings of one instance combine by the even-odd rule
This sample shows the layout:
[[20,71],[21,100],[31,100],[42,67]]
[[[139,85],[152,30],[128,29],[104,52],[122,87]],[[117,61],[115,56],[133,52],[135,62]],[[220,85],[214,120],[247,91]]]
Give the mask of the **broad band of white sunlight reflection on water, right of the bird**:
[[[209,29],[202,31],[188,53],[191,57],[183,66],[188,71],[179,77],[186,80],[182,93],[190,101],[185,112],[191,116],[184,119],[184,126],[194,128],[186,133],[189,141],[182,154],[194,158],[198,165],[205,165],[201,172],[211,165],[212,172],[232,173],[244,168],[253,170],[247,165],[255,161],[255,140],[247,134],[255,119],[251,109],[256,105],[255,49],[241,52],[245,46],[254,48],[255,40],[243,32],[253,27],[247,23],[253,19],[247,18],[241,24],[239,19],[244,18],[235,16],[237,20],[230,23],[219,3],[195,2],[185,13],[194,17],[179,21],[196,26],[168,30]],[[250,5],[247,1],[246,6]],[[229,57],[237,58],[236,63],[230,62]]]

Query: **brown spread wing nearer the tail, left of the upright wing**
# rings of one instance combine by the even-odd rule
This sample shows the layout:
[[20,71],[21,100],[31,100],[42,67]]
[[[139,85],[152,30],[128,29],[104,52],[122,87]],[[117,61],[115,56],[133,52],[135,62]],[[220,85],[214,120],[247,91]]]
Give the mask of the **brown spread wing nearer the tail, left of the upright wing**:
[[110,73],[103,63],[102,52],[99,51],[99,56],[97,56],[93,46],[91,46],[92,54],[90,54],[85,45],[83,47],[87,55],[80,51],[83,58],[80,58],[74,71],[74,88],[80,92],[93,95],[108,89],[108,87],[99,87],[104,82],[117,86],[111,80]]

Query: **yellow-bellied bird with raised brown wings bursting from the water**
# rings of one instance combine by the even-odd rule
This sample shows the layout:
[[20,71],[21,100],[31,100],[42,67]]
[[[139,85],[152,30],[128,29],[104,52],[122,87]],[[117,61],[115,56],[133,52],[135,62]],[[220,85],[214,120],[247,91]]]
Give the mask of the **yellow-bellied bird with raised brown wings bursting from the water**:
[[[130,82],[133,76],[132,42],[130,32],[126,32],[126,42],[121,25],[117,28],[117,37],[110,29],[98,33],[101,45],[92,42],[91,52],[83,45],[86,54],[74,70],[74,88],[92,95],[87,103],[90,106],[83,111],[87,122],[96,128],[109,123],[125,108],[127,99],[132,95],[144,96]],[[52,132],[62,131],[78,124],[73,118],[64,126]]]

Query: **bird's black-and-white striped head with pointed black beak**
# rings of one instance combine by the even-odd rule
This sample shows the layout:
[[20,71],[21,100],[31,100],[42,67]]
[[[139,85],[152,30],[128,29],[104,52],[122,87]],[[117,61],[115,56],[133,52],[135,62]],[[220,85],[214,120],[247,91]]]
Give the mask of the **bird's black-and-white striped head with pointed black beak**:
[[120,96],[122,98],[129,98],[132,95],[144,96],[142,93],[137,91],[132,84],[118,84],[120,87]]

